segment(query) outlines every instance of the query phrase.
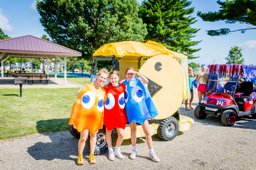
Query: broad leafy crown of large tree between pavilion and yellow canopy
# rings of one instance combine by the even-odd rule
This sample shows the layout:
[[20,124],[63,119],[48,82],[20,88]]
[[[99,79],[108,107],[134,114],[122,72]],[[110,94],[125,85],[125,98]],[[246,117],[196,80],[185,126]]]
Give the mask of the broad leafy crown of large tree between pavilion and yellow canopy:
[[143,42],[147,34],[136,0],[42,0],[36,8],[53,42],[82,52],[92,63],[92,54],[102,45]]

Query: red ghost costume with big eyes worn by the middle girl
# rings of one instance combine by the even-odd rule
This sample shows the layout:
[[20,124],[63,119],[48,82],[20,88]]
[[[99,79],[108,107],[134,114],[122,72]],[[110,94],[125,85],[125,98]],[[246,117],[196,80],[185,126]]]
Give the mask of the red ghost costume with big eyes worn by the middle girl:
[[104,124],[108,130],[119,127],[125,129],[128,118],[125,112],[124,93],[125,85],[120,84],[119,87],[109,85],[105,88],[108,99],[105,102]]

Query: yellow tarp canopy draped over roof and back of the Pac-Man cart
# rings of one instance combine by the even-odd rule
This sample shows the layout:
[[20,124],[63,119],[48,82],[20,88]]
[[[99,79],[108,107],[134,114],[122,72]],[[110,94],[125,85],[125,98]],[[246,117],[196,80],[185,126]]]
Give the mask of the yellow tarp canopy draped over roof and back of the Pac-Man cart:
[[[104,57],[128,57],[136,56],[147,59],[156,55],[169,55],[177,60],[182,67],[183,75],[183,99],[190,99],[189,78],[188,78],[188,61],[187,56],[168,50],[163,45],[148,41],[146,43],[135,41],[122,41],[105,44],[93,53],[93,56]],[[175,73],[173,73],[175,74]]]

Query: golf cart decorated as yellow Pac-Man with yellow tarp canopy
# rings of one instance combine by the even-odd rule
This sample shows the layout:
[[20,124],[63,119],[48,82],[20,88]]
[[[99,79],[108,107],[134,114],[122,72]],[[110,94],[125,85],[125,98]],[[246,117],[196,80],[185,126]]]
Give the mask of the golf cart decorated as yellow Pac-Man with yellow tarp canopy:
[[[157,134],[162,140],[173,140],[179,130],[189,130],[194,120],[180,115],[182,99],[189,98],[187,57],[169,51],[156,42],[116,42],[105,44],[94,54],[96,56],[91,75],[91,82],[96,79],[98,60],[111,60],[113,70],[120,74],[120,80],[126,79],[125,70],[133,67],[149,80],[148,90],[158,111],[158,115],[149,119],[151,135]],[[117,62],[115,58],[121,58]],[[175,74],[172,74],[175,72]],[[163,81],[164,80],[164,81]],[[108,83],[106,81],[106,83]],[[69,125],[70,133],[80,138],[73,125]],[[112,131],[113,132],[113,131]],[[124,139],[130,139],[130,124],[126,123]],[[137,123],[136,137],[144,137],[142,126]],[[86,141],[86,149],[90,150],[90,137]],[[113,136],[112,136],[113,140]],[[105,126],[97,134],[95,154],[102,154],[108,149],[105,138]]]

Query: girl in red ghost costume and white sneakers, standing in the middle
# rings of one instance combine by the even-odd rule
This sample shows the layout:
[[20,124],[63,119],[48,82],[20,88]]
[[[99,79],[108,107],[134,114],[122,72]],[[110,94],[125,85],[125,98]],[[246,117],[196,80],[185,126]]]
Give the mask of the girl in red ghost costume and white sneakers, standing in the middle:
[[[120,146],[124,139],[125,124],[128,118],[125,112],[124,94],[125,85],[119,84],[119,73],[111,71],[109,74],[110,85],[105,88],[108,94],[108,99],[105,102],[104,124],[106,126],[106,140],[109,148],[109,160],[115,160],[115,156],[123,159],[124,156],[120,151]],[[115,147],[115,152],[112,148],[111,133],[112,129],[117,128],[118,138]]]

